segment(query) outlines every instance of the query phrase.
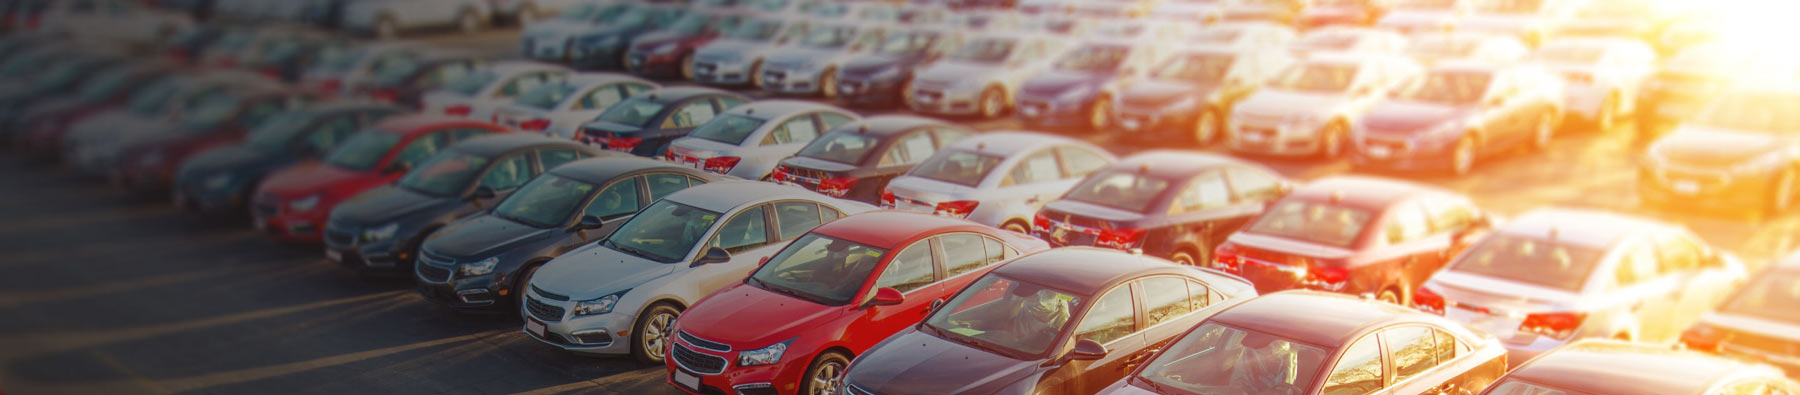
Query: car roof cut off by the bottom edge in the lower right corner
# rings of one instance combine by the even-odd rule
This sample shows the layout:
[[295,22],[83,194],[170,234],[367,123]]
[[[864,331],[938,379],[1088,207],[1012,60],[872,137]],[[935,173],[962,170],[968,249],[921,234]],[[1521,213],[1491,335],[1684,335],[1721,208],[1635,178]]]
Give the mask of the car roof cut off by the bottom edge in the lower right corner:
[[1507,377],[1577,391],[1703,393],[1714,381],[1746,368],[1750,364],[1667,346],[1580,341],[1539,355]]

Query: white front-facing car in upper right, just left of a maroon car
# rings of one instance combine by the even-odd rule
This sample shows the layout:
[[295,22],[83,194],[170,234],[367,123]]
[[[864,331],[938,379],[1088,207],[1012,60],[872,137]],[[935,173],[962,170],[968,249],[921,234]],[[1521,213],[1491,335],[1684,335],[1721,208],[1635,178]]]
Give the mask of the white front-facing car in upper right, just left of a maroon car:
[[1388,54],[1319,54],[1298,61],[1226,119],[1226,146],[1269,155],[1339,157],[1350,126],[1395,85],[1424,72]]

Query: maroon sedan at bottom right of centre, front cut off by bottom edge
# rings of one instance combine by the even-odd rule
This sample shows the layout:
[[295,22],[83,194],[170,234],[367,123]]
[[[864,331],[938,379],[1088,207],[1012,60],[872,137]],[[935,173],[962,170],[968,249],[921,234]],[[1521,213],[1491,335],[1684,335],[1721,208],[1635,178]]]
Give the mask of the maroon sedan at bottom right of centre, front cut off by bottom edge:
[[1505,373],[1507,350],[1490,335],[1294,290],[1222,308],[1102,393],[1467,393]]

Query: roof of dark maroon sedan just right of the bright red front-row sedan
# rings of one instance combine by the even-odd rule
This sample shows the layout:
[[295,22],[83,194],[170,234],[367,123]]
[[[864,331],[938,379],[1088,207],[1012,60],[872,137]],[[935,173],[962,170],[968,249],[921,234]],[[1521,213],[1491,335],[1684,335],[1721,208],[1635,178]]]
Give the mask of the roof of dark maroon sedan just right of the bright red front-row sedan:
[[1150,274],[1193,276],[1195,272],[1192,267],[1179,267],[1165,260],[1116,249],[1060,247],[1021,256],[1012,263],[994,269],[994,274],[1093,296],[1132,278]]

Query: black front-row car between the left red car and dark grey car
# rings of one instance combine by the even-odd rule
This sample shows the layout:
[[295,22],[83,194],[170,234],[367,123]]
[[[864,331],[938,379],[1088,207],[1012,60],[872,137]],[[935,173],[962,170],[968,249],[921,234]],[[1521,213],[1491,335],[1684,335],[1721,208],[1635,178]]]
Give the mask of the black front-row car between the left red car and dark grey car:
[[326,256],[364,272],[410,272],[434,231],[493,207],[547,170],[610,153],[567,139],[497,133],[439,152],[400,182],[338,204],[326,220]]

